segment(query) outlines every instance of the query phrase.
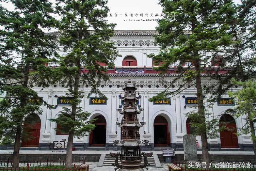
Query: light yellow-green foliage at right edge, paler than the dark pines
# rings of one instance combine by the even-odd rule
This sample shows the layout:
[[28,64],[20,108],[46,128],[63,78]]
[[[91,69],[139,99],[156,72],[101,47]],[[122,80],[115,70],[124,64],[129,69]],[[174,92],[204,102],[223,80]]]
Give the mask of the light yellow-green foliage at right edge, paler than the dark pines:
[[[237,118],[242,116],[245,119],[245,123],[243,123],[244,125],[240,128],[238,134],[255,132],[255,126],[251,127],[250,122],[255,123],[256,121],[256,82],[251,79],[241,82],[232,78],[232,83],[242,86],[242,89],[228,92],[230,97],[235,98],[236,106],[226,112],[233,114]],[[252,133],[251,136],[253,142],[256,142],[255,133]]]

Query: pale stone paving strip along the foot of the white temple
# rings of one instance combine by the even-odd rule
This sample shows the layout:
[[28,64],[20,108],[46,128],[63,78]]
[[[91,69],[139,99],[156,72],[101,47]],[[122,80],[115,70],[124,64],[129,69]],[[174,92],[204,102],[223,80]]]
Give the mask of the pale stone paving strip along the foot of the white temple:
[[[53,154],[53,150],[20,150],[20,154]],[[107,151],[107,150],[82,150],[82,151],[73,151],[73,154],[109,154],[110,152],[120,152],[120,151]],[[150,151],[143,151],[143,152],[150,152]],[[159,151],[152,151],[153,154],[162,154],[161,150]],[[0,150],[0,154],[10,154],[13,153],[13,150]],[[56,153],[54,153],[56,154]],[[63,153],[57,153],[63,154]],[[184,154],[183,151],[175,151],[175,154]],[[197,151],[197,154],[202,154],[202,151]],[[254,155],[254,152],[243,152],[243,151],[218,151],[218,152],[211,152],[209,154],[230,154],[230,155],[238,155],[238,154],[249,154]]]

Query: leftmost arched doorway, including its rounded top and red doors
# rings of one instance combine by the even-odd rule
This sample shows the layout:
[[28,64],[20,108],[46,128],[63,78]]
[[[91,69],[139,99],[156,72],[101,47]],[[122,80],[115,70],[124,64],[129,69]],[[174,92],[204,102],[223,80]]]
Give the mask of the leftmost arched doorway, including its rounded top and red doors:
[[[31,126],[33,124],[33,126]],[[37,114],[29,115],[24,121],[24,128],[26,132],[31,132],[30,135],[34,137],[29,141],[23,140],[21,147],[38,147],[40,139],[41,119]]]

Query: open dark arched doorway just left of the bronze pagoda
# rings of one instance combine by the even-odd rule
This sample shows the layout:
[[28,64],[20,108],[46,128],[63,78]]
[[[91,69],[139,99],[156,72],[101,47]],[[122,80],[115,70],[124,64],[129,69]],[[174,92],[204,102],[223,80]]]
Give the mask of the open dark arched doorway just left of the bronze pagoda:
[[104,116],[99,115],[96,116],[94,119],[98,119],[97,121],[93,122],[96,124],[94,130],[90,132],[89,135],[89,144],[92,146],[106,146],[106,132],[107,132],[107,122]]

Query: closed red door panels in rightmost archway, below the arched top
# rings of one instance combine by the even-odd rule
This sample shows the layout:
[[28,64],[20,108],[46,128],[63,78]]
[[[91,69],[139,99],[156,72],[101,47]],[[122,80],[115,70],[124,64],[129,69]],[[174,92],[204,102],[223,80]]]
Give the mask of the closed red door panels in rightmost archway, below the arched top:
[[221,148],[238,148],[238,139],[236,124],[227,124],[227,129],[234,129],[233,131],[224,130],[220,132]]

